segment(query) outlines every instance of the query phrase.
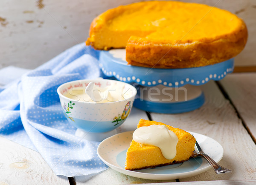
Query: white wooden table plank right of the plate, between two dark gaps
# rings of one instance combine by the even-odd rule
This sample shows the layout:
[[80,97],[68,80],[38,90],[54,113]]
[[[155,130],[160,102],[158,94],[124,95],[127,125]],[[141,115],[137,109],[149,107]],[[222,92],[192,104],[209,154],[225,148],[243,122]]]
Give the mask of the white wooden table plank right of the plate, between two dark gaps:
[[224,148],[224,156],[219,164],[233,172],[217,175],[210,169],[180,181],[256,179],[256,145],[236,115],[235,109],[224,98],[215,82],[209,81],[202,89],[206,100],[198,110],[182,114],[151,113],[151,117],[155,121],[215,139]]

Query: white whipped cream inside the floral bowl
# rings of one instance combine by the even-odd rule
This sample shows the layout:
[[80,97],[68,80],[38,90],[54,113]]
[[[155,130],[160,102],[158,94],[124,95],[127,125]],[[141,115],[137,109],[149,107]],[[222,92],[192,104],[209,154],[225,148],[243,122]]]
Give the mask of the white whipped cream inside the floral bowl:
[[113,82],[106,87],[97,87],[94,82],[90,82],[86,89],[81,87],[73,88],[65,94],[67,98],[76,101],[94,103],[121,101],[131,97],[131,95],[131,90],[127,90],[125,85],[117,85],[117,83]]

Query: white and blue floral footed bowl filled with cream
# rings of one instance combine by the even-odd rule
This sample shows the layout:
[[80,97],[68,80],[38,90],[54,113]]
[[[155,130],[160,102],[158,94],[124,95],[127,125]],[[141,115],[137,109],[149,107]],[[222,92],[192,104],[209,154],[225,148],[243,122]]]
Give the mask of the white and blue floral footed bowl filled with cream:
[[94,79],[67,82],[57,93],[68,121],[95,138],[96,133],[111,132],[127,119],[137,90],[125,82]]

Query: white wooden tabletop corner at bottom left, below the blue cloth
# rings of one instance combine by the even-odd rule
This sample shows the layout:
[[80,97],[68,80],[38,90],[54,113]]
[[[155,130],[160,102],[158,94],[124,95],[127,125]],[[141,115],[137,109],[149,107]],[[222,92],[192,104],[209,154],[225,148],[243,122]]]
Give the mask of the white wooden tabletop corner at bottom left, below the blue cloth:
[[3,137],[0,146],[0,184],[70,184],[67,177],[55,175],[38,152]]

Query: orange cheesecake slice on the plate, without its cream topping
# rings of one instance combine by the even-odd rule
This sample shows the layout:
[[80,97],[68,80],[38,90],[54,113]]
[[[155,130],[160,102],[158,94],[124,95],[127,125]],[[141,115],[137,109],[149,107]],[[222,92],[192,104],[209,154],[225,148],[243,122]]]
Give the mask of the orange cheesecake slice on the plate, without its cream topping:
[[126,153],[126,170],[140,170],[144,168],[155,168],[157,166],[177,164],[189,160],[192,156],[195,147],[195,138],[190,133],[167,124],[144,119],[140,120],[137,128],[148,127],[152,124],[165,125],[169,130],[176,134],[178,138],[176,156],[173,159],[166,159],[159,147],[140,144],[132,140]]

